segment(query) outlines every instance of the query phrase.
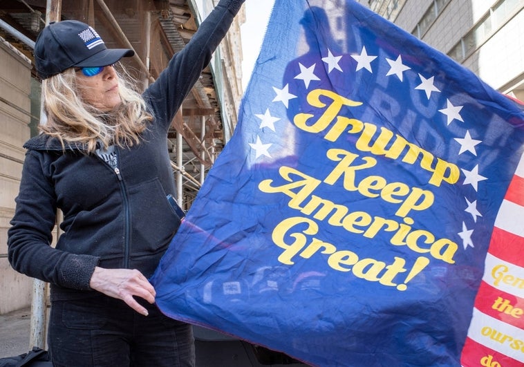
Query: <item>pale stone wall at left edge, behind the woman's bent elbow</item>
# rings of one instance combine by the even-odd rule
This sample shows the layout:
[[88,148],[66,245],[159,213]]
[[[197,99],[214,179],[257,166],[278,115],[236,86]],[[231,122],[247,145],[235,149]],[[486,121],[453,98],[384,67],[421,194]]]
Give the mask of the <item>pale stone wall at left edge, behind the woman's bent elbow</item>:
[[7,230],[15,212],[25,151],[30,138],[29,59],[0,37],[0,314],[30,305],[32,279],[12,270],[6,257]]

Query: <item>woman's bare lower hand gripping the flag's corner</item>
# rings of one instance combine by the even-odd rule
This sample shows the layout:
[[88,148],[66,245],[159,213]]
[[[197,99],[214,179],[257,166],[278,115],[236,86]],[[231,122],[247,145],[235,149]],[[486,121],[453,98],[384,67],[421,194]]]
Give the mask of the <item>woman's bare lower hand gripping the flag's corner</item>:
[[155,288],[138,270],[95,267],[89,286],[109,297],[122,299],[133,310],[145,316],[148,314],[147,310],[133,296],[155,303]]

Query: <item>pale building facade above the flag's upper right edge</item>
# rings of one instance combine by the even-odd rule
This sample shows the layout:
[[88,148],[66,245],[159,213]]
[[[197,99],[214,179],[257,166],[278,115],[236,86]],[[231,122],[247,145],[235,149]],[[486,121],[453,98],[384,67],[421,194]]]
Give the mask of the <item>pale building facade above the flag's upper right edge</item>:
[[501,93],[524,100],[524,1],[359,2],[455,59]]

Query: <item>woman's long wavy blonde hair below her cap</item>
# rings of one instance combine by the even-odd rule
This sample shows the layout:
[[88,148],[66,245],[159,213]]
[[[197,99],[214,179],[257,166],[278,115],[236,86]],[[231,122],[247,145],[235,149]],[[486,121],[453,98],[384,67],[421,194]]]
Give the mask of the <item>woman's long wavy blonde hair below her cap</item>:
[[46,124],[39,129],[66,143],[85,144],[88,152],[95,151],[97,142],[104,147],[117,144],[131,147],[140,142],[140,133],[153,117],[146,110],[140,93],[131,87],[131,77],[123,70],[117,72],[122,103],[111,112],[86,104],[79,95],[74,68],[42,81]]

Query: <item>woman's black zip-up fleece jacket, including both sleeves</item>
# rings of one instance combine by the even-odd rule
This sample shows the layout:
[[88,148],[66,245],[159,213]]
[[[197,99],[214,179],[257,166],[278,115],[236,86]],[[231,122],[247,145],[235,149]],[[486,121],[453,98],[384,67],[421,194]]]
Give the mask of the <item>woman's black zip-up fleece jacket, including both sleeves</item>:
[[[51,283],[53,300],[89,297],[95,266],[138,269],[147,277],[155,270],[180,225],[166,198],[176,193],[167,131],[243,2],[221,0],[144,92],[154,121],[140,144],[116,149],[118,170],[82,145],[64,150],[48,135],[24,144],[8,257],[15,270]],[[53,248],[57,209],[64,233]]]

